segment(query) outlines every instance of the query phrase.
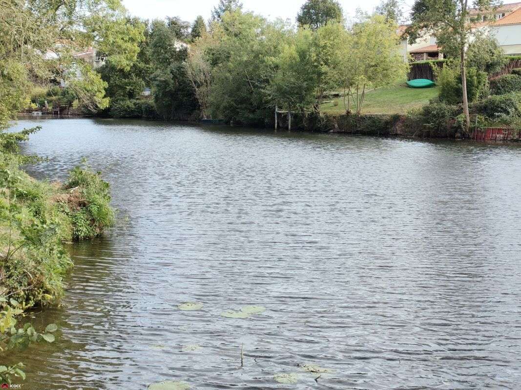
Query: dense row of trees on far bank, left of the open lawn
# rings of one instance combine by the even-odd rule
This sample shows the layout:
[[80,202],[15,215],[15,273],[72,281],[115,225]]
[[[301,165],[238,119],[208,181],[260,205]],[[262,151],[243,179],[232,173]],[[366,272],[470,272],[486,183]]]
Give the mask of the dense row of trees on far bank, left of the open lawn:
[[276,107],[322,115],[327,92],[338,89],[344,111],[359,113],[366,92],[405,79],[394,19],[358,14],[347,28],[337,2],[310,0],[297,21],[268,21],[226,0],[208,26],[202,18],[192,27],[178,18],[141,21],[133,67],[99,69],[110,98],[101,114],[265,126]]

